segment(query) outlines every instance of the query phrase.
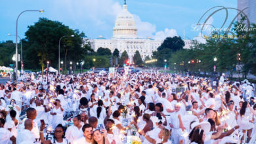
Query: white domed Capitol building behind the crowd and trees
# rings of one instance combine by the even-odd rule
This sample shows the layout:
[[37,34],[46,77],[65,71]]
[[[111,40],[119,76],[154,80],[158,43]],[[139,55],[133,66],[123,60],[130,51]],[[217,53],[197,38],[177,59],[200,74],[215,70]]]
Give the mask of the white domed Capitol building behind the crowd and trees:
[[[115,26],[113,28],[113,37],[106,39],[102,36],[97,39],[89,39],[91,48],[96,50],[100,47],[110,48],[114,52],[115,48],[119,50],[120,55],[125,50],[130,60],[133,60],[133,55],[136,50],[139,50],[142,60],[149,56],[151,58],[152,52],[156,51],[157,48],[163,43],[163,40],[154,40],[151,37],[146,39],[139,38],[137,36],[137,27],[133,15],[127,10],[127,5],[123,5],[123,11],[117,15]],[[183,39],[185,46],[184,48],[190,48],[192,41]]]

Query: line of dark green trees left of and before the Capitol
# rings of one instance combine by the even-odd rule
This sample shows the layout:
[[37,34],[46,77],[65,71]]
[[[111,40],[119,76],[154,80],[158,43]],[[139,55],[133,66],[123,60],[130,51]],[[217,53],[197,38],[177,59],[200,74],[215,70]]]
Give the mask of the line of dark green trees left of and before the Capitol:
[[[71,37],[74,36],[74,37]],[[39,70],[46,67],[47,62],[58,69],[58,46],[60,42],[60,61],[62,70],[65,72],[72,68],[80,67],[89,69],[91,67],[110,67],[111,65],[123,65],[128,59],[127,52],[119,56],[119,50],[115,49],[112,53],[109,48],[98,48],[96,52],[86,43],[86,35],[78,29],[71,29],[61,22],[39,18],[39,21],[28,26],[28,31],[22,39],[23,60],[25,69]],[[63,39],[60,38],[62,36]],[[15,52],[13,41],[3,41],[0,43],[0,65],[9,66],[12,62],[12,55]],[[18,45],[20,54],[20,45]],[[110,63],[112,58],[112,63]],[[116,58],[117,62],[116,63]],[[136,52],[134,62],[142,64],[139,52]],[[79,65],[77,65],[79,63]],[[20,62],[19,68],[20,68]]]

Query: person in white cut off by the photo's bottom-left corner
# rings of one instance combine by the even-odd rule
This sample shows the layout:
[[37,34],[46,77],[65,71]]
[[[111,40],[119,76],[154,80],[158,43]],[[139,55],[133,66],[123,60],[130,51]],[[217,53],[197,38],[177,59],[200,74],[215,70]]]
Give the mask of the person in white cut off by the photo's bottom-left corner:
[[9,143],[12,141],[12,143],[16,143],[16,138],[11,134],[9,130],[6,128],[3,128],[5,125],[5,120],[3,118],[0,118],[0,143]]

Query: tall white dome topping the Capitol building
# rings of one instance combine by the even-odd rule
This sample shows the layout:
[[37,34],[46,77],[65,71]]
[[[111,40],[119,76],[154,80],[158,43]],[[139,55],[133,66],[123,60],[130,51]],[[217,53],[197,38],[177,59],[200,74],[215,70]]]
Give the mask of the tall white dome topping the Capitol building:
[[123,11],[116,18],[113,38],[137,38],[135,20],[127,10],[127,5],[123,5]]

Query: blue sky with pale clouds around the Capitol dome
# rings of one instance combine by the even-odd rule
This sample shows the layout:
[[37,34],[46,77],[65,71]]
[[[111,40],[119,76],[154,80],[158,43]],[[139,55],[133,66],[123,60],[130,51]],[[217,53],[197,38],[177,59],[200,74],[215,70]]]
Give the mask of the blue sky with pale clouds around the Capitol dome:
[[[24,12],[18,20],[18,35],[23,39],[28,30],[40,17],[56,20],[72,29],[83,31],[89,39],[102,35],[112,37],[117,14],[121,12],[123,0],[1,0],[0,41],[15,40],[16,18],[23,10],[45,10]],[[195,27],[203,14],[212,7],[237,7],[236,0],[127,0],[127,8],[133,14],[139,37],[165,39],[175,35],[186,39],[200,38],[200,27]],[[203,16],[200,24],[218,10],[217,7]],[[232,22],[236,10],[219,10],[206,22],[214,27],[224,27]],[[209,31],[211,29],[208,29]],[[205,33],[209,33],[205,31]]]

